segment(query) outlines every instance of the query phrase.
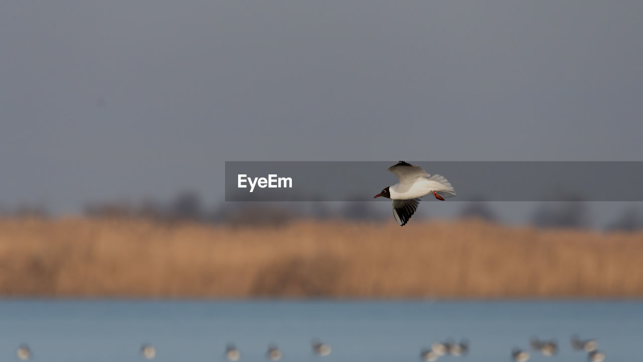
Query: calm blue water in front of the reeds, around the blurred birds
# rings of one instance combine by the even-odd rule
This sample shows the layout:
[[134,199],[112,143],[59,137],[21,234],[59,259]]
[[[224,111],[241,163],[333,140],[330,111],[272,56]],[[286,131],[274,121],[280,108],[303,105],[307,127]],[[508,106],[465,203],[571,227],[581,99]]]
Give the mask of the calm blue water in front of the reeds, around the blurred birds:
[[[141,361],[142,343],[161,362],[223,361],[227,343],[241,362],[266,361],[276,343],[285,362],[417,362],[432,341],[467,338],[462,360],[508,362],[533,336],[557,338],[560,352],[530,361],[586,361],[573,333],[598,338],[608,362],[640,360],[643,302],[0,301],[0,361],[21,343],[34,361]],[[312,338],[332,354],[312,356]]]

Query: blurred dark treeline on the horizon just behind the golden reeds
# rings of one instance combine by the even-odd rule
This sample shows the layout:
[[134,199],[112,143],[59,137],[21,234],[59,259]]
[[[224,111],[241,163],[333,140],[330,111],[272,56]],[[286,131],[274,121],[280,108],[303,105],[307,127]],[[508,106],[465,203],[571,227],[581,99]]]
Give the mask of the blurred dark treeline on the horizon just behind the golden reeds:
[[[356,196],[349,202],[219,202],[206,205],[196,191],[183,191],[171,200],[159,201],[150,198],[132,201],[102,200],[89,202],[83,208],[83,216],[91,218],[144,218],[161,223],[197,222],[226,225],[284,225],[298,219],[327,220],[342,218],[353,221],[378,221],[392,217],[388,208],[370,202],[368,196]],[[368,201],[361,201],[368,200]],[[502,223],[493,207],[479,198],[462,202],[457,218],[479,218],[487,222]],[[561,195],[561,202],[541,202],[534,207],[528,224],[545,228],[590,229],[599,227],[592,220],[591,203],[574,195]],[[602,223],[604,231],[638,231],[643,229],[643,213],[639,203],[624,203],[620,214],[613,220]],[[5,217],[48,218],[51,213],[44,204],[22,204],[2,207]],[[413,221],[422,216],[413,216]],[[604,220],[603,220],[604,221]]]

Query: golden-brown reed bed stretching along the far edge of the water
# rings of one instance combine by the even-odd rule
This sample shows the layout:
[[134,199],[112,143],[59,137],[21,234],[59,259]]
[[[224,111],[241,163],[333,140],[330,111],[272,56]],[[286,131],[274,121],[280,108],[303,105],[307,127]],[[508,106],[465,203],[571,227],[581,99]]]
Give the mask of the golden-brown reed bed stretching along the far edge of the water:
[[0,219],[0,295],[640,298],[643,233],[475,220],[252,229]]

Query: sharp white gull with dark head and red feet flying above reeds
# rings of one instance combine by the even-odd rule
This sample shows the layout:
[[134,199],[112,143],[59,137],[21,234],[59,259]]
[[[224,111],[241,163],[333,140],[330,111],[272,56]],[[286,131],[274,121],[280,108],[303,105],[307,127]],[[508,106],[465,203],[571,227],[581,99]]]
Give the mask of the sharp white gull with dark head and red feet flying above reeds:
[[411,218],[422,196],[433,193],[438,200],[455,196],[455,189],[444,176],[429,175],[420,166],[404,161],[397,162],[388,171],[399,178],[400,182],[386,186],[375,197],[384,196],[393,200],[393,216],[400,226],[406,225]]

